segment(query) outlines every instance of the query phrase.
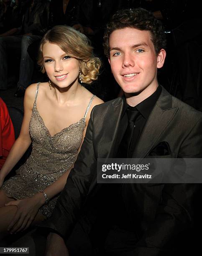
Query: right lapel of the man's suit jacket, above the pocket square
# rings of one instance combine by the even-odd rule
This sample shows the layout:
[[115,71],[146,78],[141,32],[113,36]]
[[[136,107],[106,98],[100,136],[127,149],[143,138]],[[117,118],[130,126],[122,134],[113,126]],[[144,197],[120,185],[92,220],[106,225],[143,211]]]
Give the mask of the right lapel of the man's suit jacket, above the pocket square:
[[138,140],[133,158],[144,158],[165,131],[178,108],[172,107],[172,96],[162,87],[161,95]]

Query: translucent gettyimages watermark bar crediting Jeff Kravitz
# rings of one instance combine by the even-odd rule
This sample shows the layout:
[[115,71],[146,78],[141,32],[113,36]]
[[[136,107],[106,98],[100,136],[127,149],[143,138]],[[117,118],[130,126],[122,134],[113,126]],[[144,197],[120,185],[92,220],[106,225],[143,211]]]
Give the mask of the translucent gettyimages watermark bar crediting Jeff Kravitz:
[[202,159],[98,158],[97,183],[202,183]]

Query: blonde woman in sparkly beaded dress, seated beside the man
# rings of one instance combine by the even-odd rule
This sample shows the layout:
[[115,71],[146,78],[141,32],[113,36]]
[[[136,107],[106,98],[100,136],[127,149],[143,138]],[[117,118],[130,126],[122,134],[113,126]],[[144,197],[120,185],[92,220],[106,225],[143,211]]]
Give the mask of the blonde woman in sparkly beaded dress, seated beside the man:
[[[97,79],[100,59],[86,36],[56,26],[41,40],[39,64],[49,82],[25,93],[18,139],[0,172],[0,238],[51,215],[81,147],[92,108],[103,101],[82,86]],[[33,142],[31,156],[4,182]]]

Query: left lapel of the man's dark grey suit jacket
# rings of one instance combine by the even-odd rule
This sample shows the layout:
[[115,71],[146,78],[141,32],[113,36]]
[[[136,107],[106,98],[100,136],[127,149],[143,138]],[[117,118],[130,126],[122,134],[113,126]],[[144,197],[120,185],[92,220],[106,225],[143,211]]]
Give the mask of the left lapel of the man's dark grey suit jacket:
[[100,140],[98,145],[98,158],[99,156],[102,156],[102,158],[113,157],[122,109],[123,98],[118,98],[109,105],[103,123],[102,139]]

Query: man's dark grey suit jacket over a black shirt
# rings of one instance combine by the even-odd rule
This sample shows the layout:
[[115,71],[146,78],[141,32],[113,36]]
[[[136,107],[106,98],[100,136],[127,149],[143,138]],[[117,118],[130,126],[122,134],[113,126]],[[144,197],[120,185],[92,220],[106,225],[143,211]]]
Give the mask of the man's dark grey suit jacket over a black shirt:
[[[92,110],[74,169],[52,217],[44,224],[62,237],[70,235],[81,209],[100,185],[97,158],[113,157],[122,108],[123,98],[119,97]],[[164,88],[133,157],[148,156],[162,141],[169,144],[172,158],[202,157],[202,113],[172,97]],[[137,220],[135,232],[139,238],[132,254],[127,255],[166,255],[193,223],[198,190],[196,184],[123,184],[125,207]]]

